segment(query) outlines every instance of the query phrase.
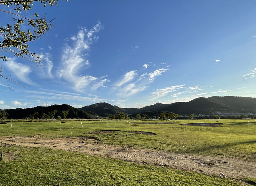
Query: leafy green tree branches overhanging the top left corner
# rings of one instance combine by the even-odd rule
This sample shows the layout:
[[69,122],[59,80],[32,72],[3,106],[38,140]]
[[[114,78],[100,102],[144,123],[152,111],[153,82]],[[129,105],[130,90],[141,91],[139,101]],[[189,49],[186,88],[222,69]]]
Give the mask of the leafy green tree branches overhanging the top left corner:
[[[0,25],[0,58],[2,58],[3,61],[7,61],[7,57],[2,53],[9,52],[14,56],[36,62],[37,67],[41,67],[41,56],[31,52],[28,43],[48,32],[52,27],[53,19],[47,22],[45,15],[40,17],[36,12],[31,13],[30,10],[35,2],[39,2],[45,7],[47,4],[50,6],[57,5],[57,1],[58,0],[0,0],[0,5],[2,5],[0,8],[4,8],[3,6],[9,7],[7,9],[8,11],[0,9],[0,12],[2,15],[8,14],[13,20],[13,23]],[[0,17],[3,16],[0,14]],[[21,27],[21,25],[25,26]],[[26,30],[22,28],[26,28]],[[0,67],[0,76],[4,77],[1,69],[2,67]],[[8,80],[8,77],[4,78]]]

